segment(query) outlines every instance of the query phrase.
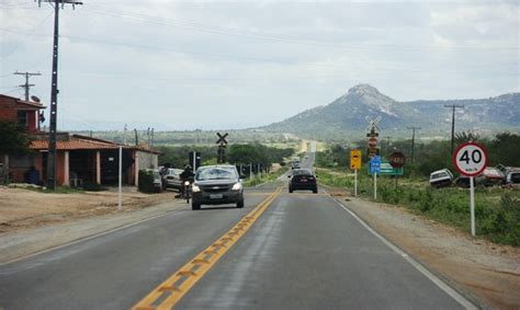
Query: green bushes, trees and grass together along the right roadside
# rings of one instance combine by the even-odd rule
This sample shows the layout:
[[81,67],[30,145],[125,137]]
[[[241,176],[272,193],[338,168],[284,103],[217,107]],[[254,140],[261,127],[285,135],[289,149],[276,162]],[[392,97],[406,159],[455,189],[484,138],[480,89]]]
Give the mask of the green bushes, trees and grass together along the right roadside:
[[[504,133],[493,139],[479,141],[489,151],[490,165],[520,165],[520,136]],[[398,141],[393,146],[397,148],[406,142]],[[406,152],[404,147],[398,149]],[[349,148],[334,145],[317,153],[316,165],[320,183],[353,192],[354,175],[347,169],[349,158],[346,154],[349,151]],[[397,187],[393,176],[377,177],[377,202],[403,206],[416,214],[470,231],[468,190],[455,185],[445,188],[432,188],[429,185],[429,174],[432,171],[442,168],[455,171],[449,156],[450,141],[421,145],[420,152],[416,154],[415,164],[405,165],[405,175],[398,177]],[[363,169],[358,172],[358,194],[363,198],[373,199],[373,183],[366,167],[364,163]],[[475,222],[477,236],[497,243],[520,245],[520,190],[477,186]]]

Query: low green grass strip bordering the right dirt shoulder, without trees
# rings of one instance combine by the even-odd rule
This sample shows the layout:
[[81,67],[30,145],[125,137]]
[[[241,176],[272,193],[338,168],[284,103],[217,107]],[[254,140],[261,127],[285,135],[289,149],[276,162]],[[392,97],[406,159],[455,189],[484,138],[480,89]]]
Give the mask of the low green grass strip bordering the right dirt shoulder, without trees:
[[[353,191],[353,174],[344,170],[317,169],[320,183]],[[373,183],[365,171],[359,174],[359,195],[373,200]],[[377,202],[398,205],[437,221],[470,231],[470,191],[431,188],[428,181],[377,177]],[[500,187],[475,188],[476,234],[496,243],[520,245],[520,191]]]

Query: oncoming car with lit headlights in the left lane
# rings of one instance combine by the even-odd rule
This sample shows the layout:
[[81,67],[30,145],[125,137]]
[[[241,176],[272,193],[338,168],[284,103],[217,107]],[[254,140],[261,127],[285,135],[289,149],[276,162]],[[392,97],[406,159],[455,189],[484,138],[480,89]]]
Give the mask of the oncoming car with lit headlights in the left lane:
[[192,209],[201,205],[236,204],[244,207],[244,186],[235,165],[204,165],[196,170],[192,185]]

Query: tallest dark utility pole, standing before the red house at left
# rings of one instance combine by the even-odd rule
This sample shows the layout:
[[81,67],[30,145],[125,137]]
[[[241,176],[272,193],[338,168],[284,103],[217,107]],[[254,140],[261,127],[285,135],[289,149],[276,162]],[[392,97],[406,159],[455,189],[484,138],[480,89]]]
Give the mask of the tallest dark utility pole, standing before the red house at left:
[[50,122],[48,133],[48,154],[47,154],[47,188],[54,191],[56,188],[56,120],[58,104],[58,38],[59,38],[59,7],[71,4],[72,9],[76,4],[83,4],[74,0],[38,0],[42,2],[54,3],[54,41],[53,41],[53,79],[50,82]]

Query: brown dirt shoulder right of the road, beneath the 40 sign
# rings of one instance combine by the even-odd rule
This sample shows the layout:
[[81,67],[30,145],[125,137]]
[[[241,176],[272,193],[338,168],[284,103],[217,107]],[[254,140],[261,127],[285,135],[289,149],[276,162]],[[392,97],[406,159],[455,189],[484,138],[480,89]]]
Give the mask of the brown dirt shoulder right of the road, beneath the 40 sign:
[[376,231],[483,308],[520,309],[520,249],[474,239],[397,206],[329,193]]

